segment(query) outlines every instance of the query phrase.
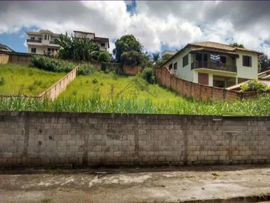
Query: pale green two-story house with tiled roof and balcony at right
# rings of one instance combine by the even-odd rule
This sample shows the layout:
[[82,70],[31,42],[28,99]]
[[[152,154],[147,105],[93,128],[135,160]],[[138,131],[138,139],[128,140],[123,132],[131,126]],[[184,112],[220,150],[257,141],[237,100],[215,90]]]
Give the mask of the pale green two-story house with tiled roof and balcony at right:
[[215,42],[190,43],[161,66],[179,78],[226,88],[257,78],[260,54]]

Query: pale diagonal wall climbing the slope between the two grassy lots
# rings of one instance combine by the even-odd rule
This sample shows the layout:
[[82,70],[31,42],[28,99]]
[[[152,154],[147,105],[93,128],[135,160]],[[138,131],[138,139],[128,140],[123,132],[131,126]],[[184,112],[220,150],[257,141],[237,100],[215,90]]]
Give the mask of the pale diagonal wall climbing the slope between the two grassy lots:
[[71,72],[69,72],[66,76],[57,81],[54,85],[52,85],[49,89],[42,92],[40,97],[48,97],[52,100],[56,99],[61,92],[66,90],[66,86],[72,82],[76,78],[78,67],[75,67]]

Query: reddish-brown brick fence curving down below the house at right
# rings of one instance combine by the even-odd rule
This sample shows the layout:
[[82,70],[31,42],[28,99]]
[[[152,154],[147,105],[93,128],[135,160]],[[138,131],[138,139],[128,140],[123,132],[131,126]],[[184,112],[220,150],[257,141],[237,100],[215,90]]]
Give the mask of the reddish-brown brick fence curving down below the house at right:
[[187,81],[172,75],[167,67],[158,67],[155,70],[159,83],[167,88],[171,88],[180,95],[196,100],[236,100],[254,99],[258,97],[257,92],[238,92]]

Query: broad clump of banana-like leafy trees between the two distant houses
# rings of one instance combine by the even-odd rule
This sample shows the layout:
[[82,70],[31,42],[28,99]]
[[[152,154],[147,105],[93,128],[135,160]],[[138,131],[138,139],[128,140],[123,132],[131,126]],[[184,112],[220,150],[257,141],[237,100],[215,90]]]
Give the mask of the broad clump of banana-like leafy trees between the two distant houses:
[[61,34],[55,42],[61,46],[58,56],[62,59],[97,61],[100,48],[89,38],[76,38]]

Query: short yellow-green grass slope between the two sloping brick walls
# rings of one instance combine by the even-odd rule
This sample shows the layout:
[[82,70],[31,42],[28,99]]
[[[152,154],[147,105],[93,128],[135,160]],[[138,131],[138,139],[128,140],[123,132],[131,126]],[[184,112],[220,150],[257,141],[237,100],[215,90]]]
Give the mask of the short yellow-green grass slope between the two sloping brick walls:
[[[138,78],[139,85],[145,86],[145,89],[132,85],[136,78]],[[131,87],[123,91],[125,87]],[[148,89],[148,92],[147,92]],[[67,89],[59,96],[59,99],[65,97],[89,97],[99,93],[102,99],[111,99],[118,94],[120,98],[126,99],[151,99],[152,102],[185,101],[185,99],[167,88],[159,85],[148,85],[140,77],[137,76],[119,76],[113,73],[95,72],[92,76],[77,76],[72,81]],[[150,93],[150,94],[149,94]]]

